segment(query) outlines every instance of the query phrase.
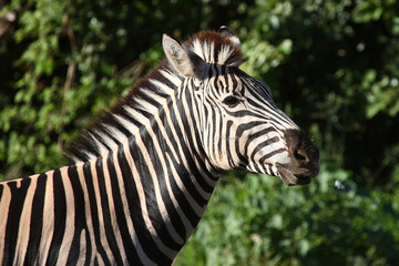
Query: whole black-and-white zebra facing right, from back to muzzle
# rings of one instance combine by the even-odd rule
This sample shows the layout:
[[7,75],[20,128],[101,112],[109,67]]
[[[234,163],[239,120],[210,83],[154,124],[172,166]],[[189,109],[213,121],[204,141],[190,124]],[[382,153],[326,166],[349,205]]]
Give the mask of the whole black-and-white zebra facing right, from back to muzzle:
[[171,265],[219,176],[309,184],[319,152],[275,104],[227,27],[164,59],[69,149],[71,164],[0,184],[1,265]]

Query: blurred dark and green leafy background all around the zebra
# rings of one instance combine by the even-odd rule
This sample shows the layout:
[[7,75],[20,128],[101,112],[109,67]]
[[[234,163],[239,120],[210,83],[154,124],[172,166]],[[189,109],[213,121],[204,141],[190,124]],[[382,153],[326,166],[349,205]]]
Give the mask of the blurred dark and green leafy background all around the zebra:
[[399,264],[396,0],[0,0],[0,180],[63,150],[183,41],[231,27],[242,69],[321,152],[310,185],[227,173],[174,265]]

